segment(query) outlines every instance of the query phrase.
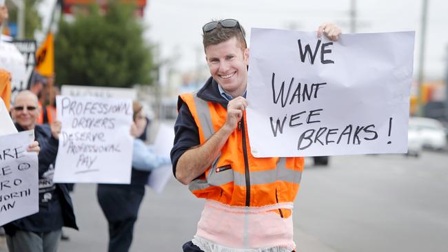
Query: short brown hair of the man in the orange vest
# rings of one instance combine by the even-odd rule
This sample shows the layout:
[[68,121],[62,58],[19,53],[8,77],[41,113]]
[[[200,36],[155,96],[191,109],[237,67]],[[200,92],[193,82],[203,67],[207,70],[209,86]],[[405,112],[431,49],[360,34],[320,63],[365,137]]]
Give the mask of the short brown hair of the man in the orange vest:
[[[221,21],[221,20],[214,20],[214,21]],[[243,26],[241,26],[241,30],[238,26],[235,26],[234,28],[223,28],[221,23],[218,23],[216,25],[216,28],[214,30],[211,30],[210,32],[205,32],[202,34],[202,43],[204,45],[204,50],[209,45],[218,45],[218,43],[225,42],[229,39],[232,39],[233,37],[236,37],[238,41],[240,42],[241,49],[245,50],[247,48],[246,41],[245,41],[245,30]],[[243,32],[243,34],[241,33]]]

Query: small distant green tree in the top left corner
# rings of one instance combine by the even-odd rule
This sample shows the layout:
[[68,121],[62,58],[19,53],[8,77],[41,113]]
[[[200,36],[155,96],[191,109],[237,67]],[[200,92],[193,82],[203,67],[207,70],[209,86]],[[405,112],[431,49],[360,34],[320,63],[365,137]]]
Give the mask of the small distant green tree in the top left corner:
[[[37,6],[42,0],[25,0],[25,37],[34,39],[34,30],[42,28],[41,16],[37,12]],[[9,22],[17,22],[17,7],[6,1],[9,10]],[[16,23],[17,24],[17,23]]]

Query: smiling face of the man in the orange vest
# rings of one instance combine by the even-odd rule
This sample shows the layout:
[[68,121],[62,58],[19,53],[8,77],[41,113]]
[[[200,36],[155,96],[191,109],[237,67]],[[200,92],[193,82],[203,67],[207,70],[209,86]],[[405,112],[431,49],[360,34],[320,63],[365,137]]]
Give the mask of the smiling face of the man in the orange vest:
[[205,59],[210,74],[225,92],[233,97],[244,94],[247,85],[249,50],[243,50],[236,37],[217,45],[207,45]]

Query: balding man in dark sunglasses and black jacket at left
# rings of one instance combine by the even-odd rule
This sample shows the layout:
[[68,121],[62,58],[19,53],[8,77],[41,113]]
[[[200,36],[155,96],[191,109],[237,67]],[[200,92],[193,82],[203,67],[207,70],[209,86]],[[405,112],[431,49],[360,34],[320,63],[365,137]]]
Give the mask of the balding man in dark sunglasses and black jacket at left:
[[34,129],[34,137],[41,149],[38,156],[39,212],[4,226],[8,249],[10,252],[54,252],[63,226],[78,229],[67,188],[52,181],[61,123],[36,125],[39,115],[37,96],[28,90],[17,94],[11,112],[19,132]]

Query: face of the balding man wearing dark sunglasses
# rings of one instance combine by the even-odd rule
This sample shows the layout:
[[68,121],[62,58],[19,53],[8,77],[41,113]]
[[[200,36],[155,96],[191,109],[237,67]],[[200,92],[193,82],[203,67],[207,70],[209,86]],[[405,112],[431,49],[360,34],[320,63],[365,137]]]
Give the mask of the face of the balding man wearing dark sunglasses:
[[23,129],[34,129],[36,118],[39,116],[37,96],[28,90],[17,94],[11,115]]

